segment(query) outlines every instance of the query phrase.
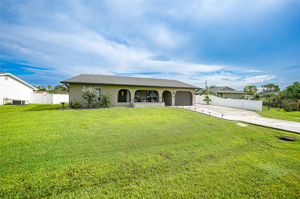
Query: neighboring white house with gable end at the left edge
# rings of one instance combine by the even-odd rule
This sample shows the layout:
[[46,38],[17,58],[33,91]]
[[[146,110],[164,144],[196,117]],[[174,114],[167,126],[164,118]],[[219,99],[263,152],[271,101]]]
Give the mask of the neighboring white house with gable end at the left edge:
[[22,79],[10,73],[0,73],[0,105],[4,99],[29,100],[33,90],[38,90],[34,86],[24,82]]

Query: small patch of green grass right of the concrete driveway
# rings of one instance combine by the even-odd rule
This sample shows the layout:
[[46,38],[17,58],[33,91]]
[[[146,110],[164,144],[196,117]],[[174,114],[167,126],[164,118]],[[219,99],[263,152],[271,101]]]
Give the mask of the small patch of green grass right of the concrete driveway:
[[294,117],[300,118],[300,111],[284,111],[283,108],[278,111],[277,107],[271,107],[268,111],[268,106],[262,106],[262,111],[254,111],[262,117],[274,118],[278,120],[288,120],[293,122],[300,122],[300,119],[296,119]]

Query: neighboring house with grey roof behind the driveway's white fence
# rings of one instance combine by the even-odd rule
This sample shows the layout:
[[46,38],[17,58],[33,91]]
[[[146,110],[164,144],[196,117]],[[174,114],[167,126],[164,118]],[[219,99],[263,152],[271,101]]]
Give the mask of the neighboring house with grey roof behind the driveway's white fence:
[[[208,90],[222,95],[222,98],[241,99],[245,95],[244,91],[238,91],[229,86],[221,86],[216,88],[208,88]],[[203,90],[199,90],[196,94],[200,94]]]

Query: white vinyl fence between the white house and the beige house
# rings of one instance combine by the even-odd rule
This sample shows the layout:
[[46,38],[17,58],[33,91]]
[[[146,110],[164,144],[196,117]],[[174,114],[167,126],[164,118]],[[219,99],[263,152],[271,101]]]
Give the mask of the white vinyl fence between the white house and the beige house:
[[60,102],[69,102],[69,95],[46,93],[31,94],[31,103],[33,104],[59,104]]

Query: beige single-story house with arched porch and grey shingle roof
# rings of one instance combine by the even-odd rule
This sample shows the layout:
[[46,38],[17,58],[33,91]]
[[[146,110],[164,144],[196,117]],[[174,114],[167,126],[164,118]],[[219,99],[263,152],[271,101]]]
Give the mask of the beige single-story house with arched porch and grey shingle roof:
[[79,101],[82,106],[86,106],[80,97],[83,86],[95,88],[100,94],[110,93],[114,107],[140,107],[143,102],[143,107],[195,105],[195,91],[199,89],[177,80],[93,74],[81,74],[61,83],[69,84],[69,100]]

